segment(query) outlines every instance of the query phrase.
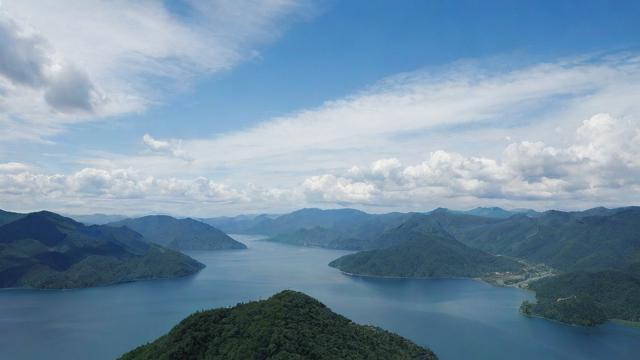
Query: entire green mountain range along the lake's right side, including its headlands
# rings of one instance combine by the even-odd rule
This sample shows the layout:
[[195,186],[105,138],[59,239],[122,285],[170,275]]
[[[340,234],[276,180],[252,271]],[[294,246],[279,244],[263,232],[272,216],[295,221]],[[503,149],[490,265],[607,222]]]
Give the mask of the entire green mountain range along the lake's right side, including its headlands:
[[[555,270],[526,283],[537,294],[536,305],[523,305],[527,313],[580,325],[613,318],[638,321],[635,297],[629,294],[635,294],[640,279],[639,207],[440,208],[379,215],[302,209],[245,230],[287,244],[360,250],[330,265],[361,275],[478,277],[518,273],[524,261],[545,264]],[[548,276],[554,272],[559,275]],[[569,286],[567,279],[579,286]]]

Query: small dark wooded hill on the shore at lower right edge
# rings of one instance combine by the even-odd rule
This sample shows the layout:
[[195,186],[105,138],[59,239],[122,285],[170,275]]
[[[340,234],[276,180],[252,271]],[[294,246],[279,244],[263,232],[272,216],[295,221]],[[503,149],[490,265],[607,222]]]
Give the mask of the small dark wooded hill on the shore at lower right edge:
[[523,313],[593,326],[609,319],[640,321],[640,278],[619,271],[574,272],[535,281],[535,304]]

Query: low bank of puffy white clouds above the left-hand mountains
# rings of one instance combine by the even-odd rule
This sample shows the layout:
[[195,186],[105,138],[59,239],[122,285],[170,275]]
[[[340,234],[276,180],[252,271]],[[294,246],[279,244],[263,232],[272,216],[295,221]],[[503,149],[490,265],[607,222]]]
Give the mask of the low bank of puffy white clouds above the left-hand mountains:
[[13,209],[23,211],[42,206],[67,212],[82,211],[90,203],[96,210],[118,209],[119,213],[131,214],[171,212],[182,204],[183,211],[204,215],[211,206],[259,203],[274,199],[274,192],[278,191],[252,186],[239,190],[204,177],[157,178],[134,169],[84,168],[64,175],[34,173],[13,165],[5,167],[11,171],[0,171],[0,202],[11,203]]

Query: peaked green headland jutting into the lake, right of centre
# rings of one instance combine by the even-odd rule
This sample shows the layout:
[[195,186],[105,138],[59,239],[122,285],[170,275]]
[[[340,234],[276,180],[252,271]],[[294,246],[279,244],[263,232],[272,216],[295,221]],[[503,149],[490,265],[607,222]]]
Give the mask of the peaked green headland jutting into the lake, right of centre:
[[385,232],[376,239],[377,249],[345,255],[329,266],[350,274],[411,278],[481,277],[522,269],[514,260],[464,245],[423,218]]

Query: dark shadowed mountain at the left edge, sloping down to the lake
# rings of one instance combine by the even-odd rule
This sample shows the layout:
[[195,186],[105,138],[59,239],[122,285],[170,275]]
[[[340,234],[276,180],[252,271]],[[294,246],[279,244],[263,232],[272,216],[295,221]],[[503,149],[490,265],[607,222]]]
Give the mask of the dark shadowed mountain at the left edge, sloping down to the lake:
[[0,287],[80,288],[186,276],[204,265],[109,226],[41,211],[0,226]]

